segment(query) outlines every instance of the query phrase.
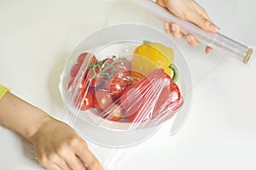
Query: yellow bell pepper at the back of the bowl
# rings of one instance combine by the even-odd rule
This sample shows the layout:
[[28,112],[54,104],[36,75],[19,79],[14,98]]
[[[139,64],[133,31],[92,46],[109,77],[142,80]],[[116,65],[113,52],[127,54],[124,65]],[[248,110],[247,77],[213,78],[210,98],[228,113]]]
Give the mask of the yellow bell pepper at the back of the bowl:
[[[174,61],[172,48],[167,48],[159,42],[145,41],[134,50],[133,54],[135,54],[132,59],[133,70],[147,74],[153,71],[155,67],[158,67],[164,69],[168,75],[172,75],[172,68],[170,68],[170,65],[172,65]],[[142,56],[149,59],[152,64],[148,64],[149,62],[143,59]]]

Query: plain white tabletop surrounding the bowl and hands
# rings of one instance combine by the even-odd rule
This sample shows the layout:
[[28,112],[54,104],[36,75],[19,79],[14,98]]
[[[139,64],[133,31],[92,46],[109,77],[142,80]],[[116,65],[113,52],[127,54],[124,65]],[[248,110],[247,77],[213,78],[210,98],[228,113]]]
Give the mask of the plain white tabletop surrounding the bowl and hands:
[[[68,54],[84,37],[110,23],[110,2],[1,1],[1,83],[62,119],[65,111],[58,89],[61,71]],[[256,47],[255,1],[198,3],[223,34]],[[185,55],[205,57],[202,46],[190,48],[184,41],[177,43]],[[189,118],[174,136],[162,130],[130,149],[103,150],[89,143],[91,150],[102,157],[101,161],[115,153],[115,166],[110,169],[255,169],[255,64],[255,58],[248,65],[228,58],[203,74],[193,89]],[[25,139],[4,127],[0,132],[0,169],[42,169],[33,160],[32,147]]]

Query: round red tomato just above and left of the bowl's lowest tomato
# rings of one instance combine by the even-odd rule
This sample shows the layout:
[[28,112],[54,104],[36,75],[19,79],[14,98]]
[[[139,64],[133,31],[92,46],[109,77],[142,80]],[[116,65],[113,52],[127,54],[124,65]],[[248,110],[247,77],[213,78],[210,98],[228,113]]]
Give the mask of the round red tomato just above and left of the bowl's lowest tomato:
[[113,103],[113,99],[107,90],[98,89],[94,94],[94,106],[96,109],[104,110]]

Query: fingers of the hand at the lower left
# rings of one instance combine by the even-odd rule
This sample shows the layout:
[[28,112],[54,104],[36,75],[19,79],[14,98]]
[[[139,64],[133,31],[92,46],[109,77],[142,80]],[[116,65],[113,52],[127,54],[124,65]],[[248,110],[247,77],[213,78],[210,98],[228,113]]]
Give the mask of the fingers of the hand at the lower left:
[[83,139],[79,137],[70,139],[69,142],[60,144],[56,150],[47,150],[39,154],[38,162],[47,170],[102,170],[100,162],[97,161],[87,147]]

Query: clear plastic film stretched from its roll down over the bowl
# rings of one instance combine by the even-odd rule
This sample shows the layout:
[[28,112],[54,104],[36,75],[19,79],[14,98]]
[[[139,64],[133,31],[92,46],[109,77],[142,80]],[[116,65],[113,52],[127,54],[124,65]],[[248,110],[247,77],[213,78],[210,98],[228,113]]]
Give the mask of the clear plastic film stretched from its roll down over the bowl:
[[[168,126],[167,136],[177,133],[198,82],[230,56],[246,64],[253,50],[178,20],[150,0],[108,5],[103,28],[70,54],[59,88],[67,122],[93,144],[92,150],[108,150],[97,155],[104,169],[115,169],[125,149],[142,144],[161,127]],[[176,22],[203,45],[192,49],[167,35],[166,21]],[[205,45],[214,49],[211,54],[205,54]]]

